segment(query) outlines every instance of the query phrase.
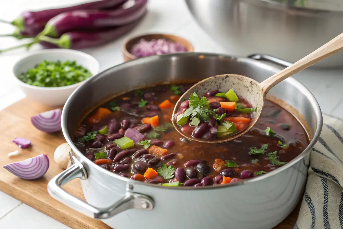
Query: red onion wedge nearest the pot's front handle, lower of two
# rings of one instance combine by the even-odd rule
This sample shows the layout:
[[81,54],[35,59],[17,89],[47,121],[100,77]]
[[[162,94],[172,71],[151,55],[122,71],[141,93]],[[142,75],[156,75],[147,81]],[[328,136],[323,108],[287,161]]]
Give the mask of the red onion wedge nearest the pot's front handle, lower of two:
[[22,179],[34,180],[41,178],[48,171],[49,158],[46,154],[40,154],[24,161],[4,165],[3,168]]

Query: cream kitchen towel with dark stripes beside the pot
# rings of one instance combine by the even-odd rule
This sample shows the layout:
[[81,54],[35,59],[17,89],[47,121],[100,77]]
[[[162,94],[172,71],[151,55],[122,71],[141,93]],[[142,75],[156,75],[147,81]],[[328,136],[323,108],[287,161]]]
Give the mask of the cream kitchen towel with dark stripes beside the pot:
[[343,229],[343,120],[323,114],[294,229]]

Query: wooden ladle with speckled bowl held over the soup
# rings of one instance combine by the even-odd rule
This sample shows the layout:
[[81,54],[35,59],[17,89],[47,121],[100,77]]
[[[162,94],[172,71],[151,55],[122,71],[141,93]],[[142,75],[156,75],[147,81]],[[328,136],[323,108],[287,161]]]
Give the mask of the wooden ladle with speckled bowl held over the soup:
[[[236,139],[247,133],[256,124],[262,112],[265,96],[272,87],[274,87],[277,83],[283,81],[284,79],[293,76],[295,73],[317,63],[318,61],[325,59],[335,53],[338,53],[342,49],[343,33],[333,38],[331,41],[321,46],[317,50],[313,51],[311,54],[298,60],[293,65],[283,69],[282,71],[276,73],[275,75],[269,77],[261,83],[245,76],[233,74],[218,75],[206,78],[194,84],[177,101],[171,119],[173,125],[182,136],[192,141],[218,144]],[[227,138],[214,138],[212,140],[193,138],[192,136],[185,135],[181,131],[181,126],[179,126],[176,122],[176,114],[179,110],[180,104],[183,101],[188,100],[190,94],[197,92],[198,95],[203,95],[208,91],[218,90],[220,92],[226,92],[229,89],[234,89],[237,95],[247,99],[253,107],[257,107],[257,111],[253,113],[253,119],[246,129]]]

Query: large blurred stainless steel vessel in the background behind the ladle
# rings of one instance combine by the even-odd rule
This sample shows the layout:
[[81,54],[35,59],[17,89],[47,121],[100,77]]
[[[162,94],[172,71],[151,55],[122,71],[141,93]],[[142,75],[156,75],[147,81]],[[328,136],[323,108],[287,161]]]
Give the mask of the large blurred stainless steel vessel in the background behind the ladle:
[[[285,4],[294,0],[283,0],[283,3],[274,0],[185,1],[203,30],[233,55],[268,53],[296,62],[342,33],[343,4],[340,1],[335,4],[329,0],[321,0],[320,4],[318,0],[317,4],[304,1],[305,5],[317,9]],[[342,59],[343,52],[314,66],[342,66]]]

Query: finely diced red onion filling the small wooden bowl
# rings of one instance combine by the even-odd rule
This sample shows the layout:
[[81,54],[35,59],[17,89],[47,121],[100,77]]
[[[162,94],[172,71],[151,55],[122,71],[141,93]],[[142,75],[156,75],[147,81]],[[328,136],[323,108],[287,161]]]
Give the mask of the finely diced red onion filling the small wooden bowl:
[[168,41],[166,39],[152,39],[146,41],[140,39],[140,41],[133,45],[131,53],[135,57],[145,57],[166,53],[181,53],[186,52],[187,48],[178,42]]

